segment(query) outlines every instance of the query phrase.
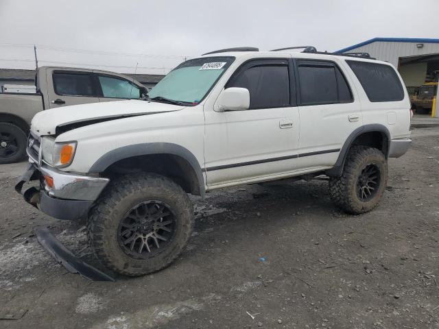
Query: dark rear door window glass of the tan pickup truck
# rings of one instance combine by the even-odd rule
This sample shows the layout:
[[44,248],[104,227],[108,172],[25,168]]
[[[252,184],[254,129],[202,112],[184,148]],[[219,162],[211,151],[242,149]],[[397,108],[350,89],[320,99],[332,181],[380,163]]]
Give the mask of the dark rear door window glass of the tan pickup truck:
[[57,95],[94,96],[91,76],[78,73],[54,73],[54,87]]

